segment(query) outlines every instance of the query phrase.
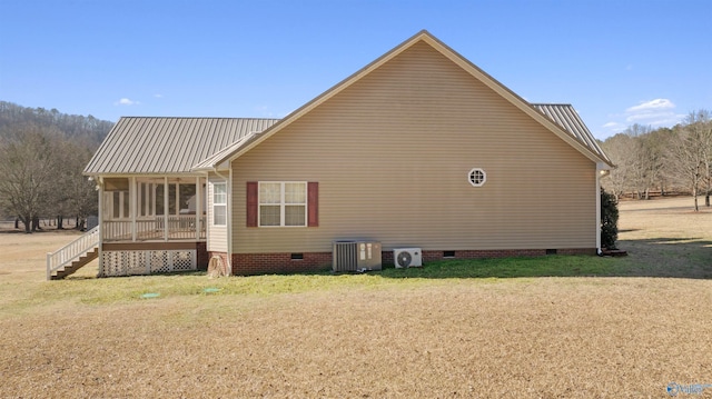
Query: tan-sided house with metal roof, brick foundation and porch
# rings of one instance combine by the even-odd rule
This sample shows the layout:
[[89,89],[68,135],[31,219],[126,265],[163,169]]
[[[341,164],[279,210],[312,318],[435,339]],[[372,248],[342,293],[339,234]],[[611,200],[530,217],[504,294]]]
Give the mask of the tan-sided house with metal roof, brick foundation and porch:
[[101,275],[215,257],[250,275],[328,267],[354,239],[384,263],[594,255],[610,168],[571,106],[531,104],[422,31],[280,120],[121,118],[85,173]]

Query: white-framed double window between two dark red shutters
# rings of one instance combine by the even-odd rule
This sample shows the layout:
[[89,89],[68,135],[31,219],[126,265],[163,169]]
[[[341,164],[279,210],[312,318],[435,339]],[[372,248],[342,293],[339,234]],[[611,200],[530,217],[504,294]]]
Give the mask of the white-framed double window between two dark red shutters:
[[259,226],[307,226],[307,183],[260,181]]

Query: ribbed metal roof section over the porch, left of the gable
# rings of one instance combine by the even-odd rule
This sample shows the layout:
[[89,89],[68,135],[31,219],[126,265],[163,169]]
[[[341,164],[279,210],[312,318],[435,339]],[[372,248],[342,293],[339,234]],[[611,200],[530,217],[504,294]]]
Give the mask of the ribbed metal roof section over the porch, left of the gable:
[[122,117],[85,174],[185,173],[279,119]]

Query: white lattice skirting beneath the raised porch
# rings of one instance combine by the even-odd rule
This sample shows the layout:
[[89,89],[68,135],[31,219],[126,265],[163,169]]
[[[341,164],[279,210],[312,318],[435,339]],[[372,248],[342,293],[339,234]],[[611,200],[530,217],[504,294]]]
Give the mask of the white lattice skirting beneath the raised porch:
[[101,276],[135,276],[197,270],[197,251],[149,250],[149,251],[102,251]]

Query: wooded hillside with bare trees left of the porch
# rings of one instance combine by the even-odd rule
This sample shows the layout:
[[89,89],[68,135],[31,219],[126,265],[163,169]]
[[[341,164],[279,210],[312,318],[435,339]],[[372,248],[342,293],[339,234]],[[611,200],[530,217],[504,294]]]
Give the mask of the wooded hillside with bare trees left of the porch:
[[97,215],[95,183],[82,176],[112,122],[0,101],[0,217],[26,232],[40,219],[76,218],[83,229]]

